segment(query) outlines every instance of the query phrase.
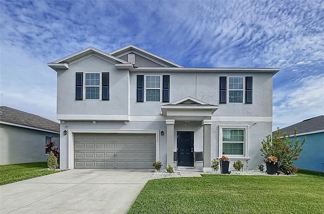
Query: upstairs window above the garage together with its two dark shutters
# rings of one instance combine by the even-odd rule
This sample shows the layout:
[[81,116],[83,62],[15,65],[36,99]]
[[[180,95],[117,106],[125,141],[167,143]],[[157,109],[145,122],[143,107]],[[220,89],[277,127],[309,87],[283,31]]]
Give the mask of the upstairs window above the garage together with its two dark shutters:
[[109,100],[109,73],[76,73],[75,100]]

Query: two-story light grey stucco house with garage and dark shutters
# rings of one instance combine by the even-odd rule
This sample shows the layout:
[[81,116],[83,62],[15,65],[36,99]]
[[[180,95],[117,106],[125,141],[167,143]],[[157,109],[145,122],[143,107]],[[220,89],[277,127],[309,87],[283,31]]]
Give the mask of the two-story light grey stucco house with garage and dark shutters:
[[134,45],[109,54],[90,47],[48,66],[57,72],[61,168],[152,168],[161,160],[208,171],[222,154],[231,167],[262,163],[279,68],[183,67]]

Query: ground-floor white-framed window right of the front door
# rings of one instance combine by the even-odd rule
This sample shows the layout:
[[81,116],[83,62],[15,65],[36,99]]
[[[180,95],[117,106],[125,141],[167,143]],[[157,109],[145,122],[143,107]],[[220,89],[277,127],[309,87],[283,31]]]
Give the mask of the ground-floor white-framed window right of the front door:
[[219,156],[249,157],[249,126],[219,126]]

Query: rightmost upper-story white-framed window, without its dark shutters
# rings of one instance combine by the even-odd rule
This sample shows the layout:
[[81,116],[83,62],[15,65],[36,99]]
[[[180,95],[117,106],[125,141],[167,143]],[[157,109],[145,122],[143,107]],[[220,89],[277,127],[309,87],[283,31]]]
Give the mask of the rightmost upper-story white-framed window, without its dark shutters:
[[228,102],[243,103],[244,100],[244,78],[228,77]]

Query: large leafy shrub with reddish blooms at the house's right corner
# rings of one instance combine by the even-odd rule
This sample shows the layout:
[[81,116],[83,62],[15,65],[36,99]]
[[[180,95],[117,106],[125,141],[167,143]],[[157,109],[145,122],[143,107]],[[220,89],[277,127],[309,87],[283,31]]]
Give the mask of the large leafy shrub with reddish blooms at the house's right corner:
[[[296,138],[297,128],[295,128],[294,139],[290,139],[290,134],[284,132],[280,136],[279,128],[277,128],[276,135],[266,136],[266,140],[262,140],[261,156],[266,158],[267,161],[271,156],[277,158],[278,170],[284,174],[294,174],[297,167],[294,166],[294,161],[300,157],[303,150],[306,137],[300,143],[299,138]],[[274,160],[274,159],[273,159]]]

